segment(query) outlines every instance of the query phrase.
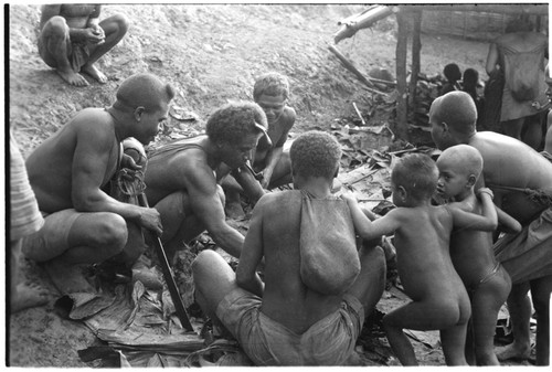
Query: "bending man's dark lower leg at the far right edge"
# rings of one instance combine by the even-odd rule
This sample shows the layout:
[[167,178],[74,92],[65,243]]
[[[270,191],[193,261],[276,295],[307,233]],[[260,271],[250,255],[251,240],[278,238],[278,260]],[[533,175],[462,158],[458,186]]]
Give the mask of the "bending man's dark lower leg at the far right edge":
[[531,280],[531,298],[537,312],[537,365],[550,364],[550,293],[552,276]]

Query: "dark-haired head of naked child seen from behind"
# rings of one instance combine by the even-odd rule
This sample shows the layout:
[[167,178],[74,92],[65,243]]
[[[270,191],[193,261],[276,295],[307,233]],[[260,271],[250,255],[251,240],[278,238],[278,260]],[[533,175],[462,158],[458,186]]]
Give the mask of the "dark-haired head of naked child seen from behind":
[[429,201],[437,188],[438,170],[435,161],[424,153],[402,157],[391,172],[393,203],[397,206],[416,205]]

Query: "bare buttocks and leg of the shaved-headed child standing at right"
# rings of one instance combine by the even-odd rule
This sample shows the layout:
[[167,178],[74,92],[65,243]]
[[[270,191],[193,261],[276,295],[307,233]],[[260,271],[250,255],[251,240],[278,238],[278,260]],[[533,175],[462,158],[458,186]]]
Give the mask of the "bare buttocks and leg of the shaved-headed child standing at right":
[[498,312],[508,298],[510,288],[510,276],[505,268],[500,267],[492,277],[479,285],[471,297],[471,322],[477,365],[500,365],[495,354],[495,329]]

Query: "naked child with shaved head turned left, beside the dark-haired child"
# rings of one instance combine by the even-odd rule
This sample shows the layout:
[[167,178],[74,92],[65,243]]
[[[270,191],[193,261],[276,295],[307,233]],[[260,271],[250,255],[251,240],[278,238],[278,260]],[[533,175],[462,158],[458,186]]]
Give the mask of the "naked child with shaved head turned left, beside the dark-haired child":
[[[437,192],[452,199],[449,209],[476,214],[481,203],[474,193],[484,161],[479,151],[468,145],[449,147],[439,156]],[[518,221],[499,212],[499,223],[520,232]],[[506,220],[501,216],[506,216]],[[510,275],[495,258],[492,234],[484,231],[456,230],[450,235],[450,258],[471,300],[466,359],[477,365],[500,365],[493,351],[495,328],[500,307],[511,289]]]

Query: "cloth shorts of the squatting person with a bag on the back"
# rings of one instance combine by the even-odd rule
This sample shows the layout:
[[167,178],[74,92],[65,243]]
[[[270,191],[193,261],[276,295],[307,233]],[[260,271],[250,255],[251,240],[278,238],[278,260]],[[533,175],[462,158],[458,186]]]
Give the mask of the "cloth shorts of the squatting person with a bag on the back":
[[216,316],[256,365],[340,365],[354,350],[364,309],[352,295],[297,334],[261,312],[262,299],[242,288],[227,294]]

